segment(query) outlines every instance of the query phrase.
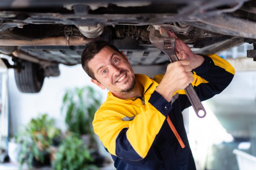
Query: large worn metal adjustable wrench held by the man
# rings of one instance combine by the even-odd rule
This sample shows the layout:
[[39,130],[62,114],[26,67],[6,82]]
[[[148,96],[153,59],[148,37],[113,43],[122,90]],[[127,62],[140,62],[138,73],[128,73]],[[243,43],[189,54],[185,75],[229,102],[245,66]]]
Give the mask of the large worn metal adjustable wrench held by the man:
[[[170,62],[178,61],[178,57],[175,53],[175,37],[169,37],[167,31],[162,27],[161,28],[161,37],[155,35],[155,28],[152,27],[149,33],[149,40],[151,41],[152,45],[163,51],[170,59]],[[204,118],[206,116],[206,111],[197,96],[195,89],[193,88],[192,84],[190,83],[185,89],[187,97],[199,118]]]

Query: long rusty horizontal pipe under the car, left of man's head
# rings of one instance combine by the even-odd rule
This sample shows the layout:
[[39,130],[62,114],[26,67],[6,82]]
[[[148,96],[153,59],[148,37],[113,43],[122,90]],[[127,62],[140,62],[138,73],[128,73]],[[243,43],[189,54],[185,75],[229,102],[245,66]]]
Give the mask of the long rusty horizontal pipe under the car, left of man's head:
[[[86,45],[93,40],[71,37],[69,45]],[[66,37],[48,37],[42,40],[24,41],[24,40],[0,40],[2,46],[40,46],[40,45],[68,45]]]

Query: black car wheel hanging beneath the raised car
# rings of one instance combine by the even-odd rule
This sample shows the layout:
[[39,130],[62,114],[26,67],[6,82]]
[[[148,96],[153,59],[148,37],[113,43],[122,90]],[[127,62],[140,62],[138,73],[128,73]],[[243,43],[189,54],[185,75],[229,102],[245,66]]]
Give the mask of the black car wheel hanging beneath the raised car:
[[14,71],[16,85],[20,92],[38,93],[44,82],[44,70],[40,65],[29,61],[22,60],[20,70]]

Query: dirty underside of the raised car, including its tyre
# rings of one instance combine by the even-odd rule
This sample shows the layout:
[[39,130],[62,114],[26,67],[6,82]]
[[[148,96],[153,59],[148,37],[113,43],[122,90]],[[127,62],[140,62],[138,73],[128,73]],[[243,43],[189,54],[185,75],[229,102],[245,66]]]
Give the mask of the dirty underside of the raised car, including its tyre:
[[93,41],[113,43],[132,65],[168,62],[149,41],[150,25],[173,31],[195,53],[217,53],[255,43],[256,1],[4,0],[0,52],[14,61],[9,67],[15,68],[19,90],[34,93],[45,76],[59,75],[58,64],[79,64],[83,49]]

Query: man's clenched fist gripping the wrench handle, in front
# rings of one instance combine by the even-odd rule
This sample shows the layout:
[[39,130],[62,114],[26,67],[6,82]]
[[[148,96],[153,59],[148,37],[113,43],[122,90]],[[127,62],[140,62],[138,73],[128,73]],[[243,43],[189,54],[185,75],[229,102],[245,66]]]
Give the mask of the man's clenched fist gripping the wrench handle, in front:
[[168,102],[171,102],[173,93],[180,89],[185,89],[194,78],[191,62],[183,59],[170,63],[167,66],[166,73],[156,87],[156,91],[161,94]]

